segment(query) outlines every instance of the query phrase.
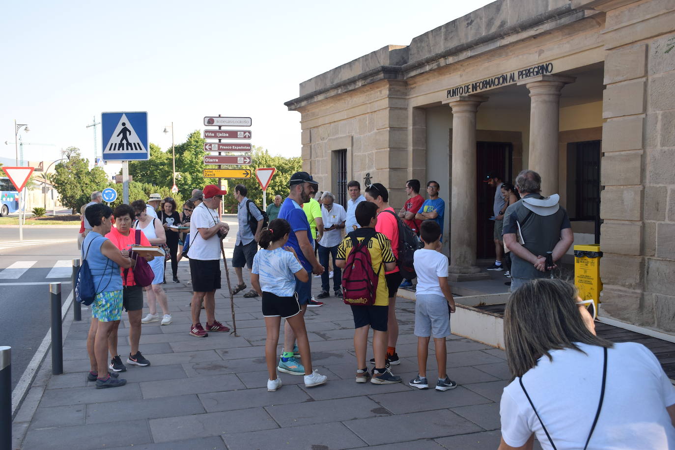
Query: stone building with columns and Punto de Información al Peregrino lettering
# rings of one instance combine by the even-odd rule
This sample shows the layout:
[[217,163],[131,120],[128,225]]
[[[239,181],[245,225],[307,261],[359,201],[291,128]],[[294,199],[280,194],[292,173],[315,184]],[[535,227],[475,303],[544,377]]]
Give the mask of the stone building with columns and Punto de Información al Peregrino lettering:
[[[367,173],[445,199],[456,280],[494,256],[487,171],[538,171],[575,244],[599,242],[603,310],[675,331],[675,1],[498,0],[300,84],[302,161],[346,200]],[[452,251],[450,251],[452,250]]]

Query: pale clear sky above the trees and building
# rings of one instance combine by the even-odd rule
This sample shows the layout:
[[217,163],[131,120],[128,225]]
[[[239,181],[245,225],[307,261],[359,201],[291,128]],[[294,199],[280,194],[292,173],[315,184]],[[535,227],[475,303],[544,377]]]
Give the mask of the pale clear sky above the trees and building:
[[[299,96],[300,82],[385,45],[409,45],[487,3],[5,2],[0,161],[15,159],[14,119],[30,128],[20,132],[24,160],[53,161],[76,146],[92,161],[86,125],[105,111],[147,111],[149,140],[163,149],[172,122],[178,144],[205,128],[205,116],[252,117],[253,145],[299,156],[300,113],[284,102]],[[96,146],[100,156],[100,125]]]

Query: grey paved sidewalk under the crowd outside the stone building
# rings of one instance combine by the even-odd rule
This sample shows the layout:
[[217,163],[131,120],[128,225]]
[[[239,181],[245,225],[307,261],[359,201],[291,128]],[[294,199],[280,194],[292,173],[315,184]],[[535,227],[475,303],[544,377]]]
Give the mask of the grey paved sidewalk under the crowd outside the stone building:
[[[189,279],[187,269],[182,261],[182,281]],[[188,334],[190,285],[164,286],[173,323],[143,325],[140,351],[152,366],[122,372],[125,387],[95,389],[85,381],[89,310],[83,310],[82,322],[71,322],[69,312],[65,373],[51,376],[45,358],[14,421],[15,448],[495,449],[499,443],[499,398],[509,378],[504,352],[452,336],[448,374],[459,386],[446,392],[409,387],[417,367],[409,300],[397,303],[401,364],[392,366],[404,383],[354,382],[354,322],[342,300],[329,298],[323,307],[309,308],[305,318],[313,362],[328,376],[327,384],[307,389],[302,376],[280,374],[284,387],[270,393],[261,300],[243,298],[248,289],[235,297],[238,337],[197,338]],[[319,291],[318,279],[313,288]],[[216,308],[216,318],[232,327],[226,289],[217,291]],[[119,327],[123,361],[129,353],[125,318],[123,313]],[[429,369],[429,380],[435,380],[433,345]]]

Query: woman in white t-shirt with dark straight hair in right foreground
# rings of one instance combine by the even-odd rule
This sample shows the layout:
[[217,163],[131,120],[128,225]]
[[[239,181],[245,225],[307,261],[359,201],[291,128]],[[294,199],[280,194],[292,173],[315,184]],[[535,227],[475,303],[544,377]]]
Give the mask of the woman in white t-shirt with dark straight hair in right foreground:
[[504,388],[500,450],[673,449],[675,388],[639,343],[595,335],[576,287],[534,279],[504,314],[514,381]]

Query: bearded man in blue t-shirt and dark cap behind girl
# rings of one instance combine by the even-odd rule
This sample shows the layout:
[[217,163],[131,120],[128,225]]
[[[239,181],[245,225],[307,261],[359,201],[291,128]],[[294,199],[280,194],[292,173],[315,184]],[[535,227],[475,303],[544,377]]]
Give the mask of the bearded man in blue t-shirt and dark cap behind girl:
[[[318,185],[312,175],[306,172],[296,172],[291,175],[288,183],[290,192],[286,201],[281,204],[277,219],[284,219],[291,225],[291,232],[288,235],[288,246],[291,246],[298,255],[300,264],[308,273],[321,275],[323,266],[319,264],[314,255],[312,231],[307,221],[307,215],[300,204],[309,202],[310,192],[313,191],[312,185]],[[312,298],[312,279],[306,283],[296,281],[296,293],[298,294],[298,303],[300,304],[300,314],[304,315],[307,309],[307,302]],[[284,326],[284,354],[279,361],[279,370],[286,373],[304,374],[304,367],[294,358],[295,333],[288,325]]]

